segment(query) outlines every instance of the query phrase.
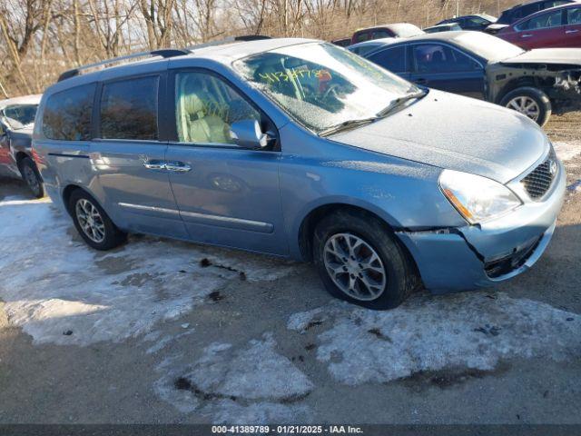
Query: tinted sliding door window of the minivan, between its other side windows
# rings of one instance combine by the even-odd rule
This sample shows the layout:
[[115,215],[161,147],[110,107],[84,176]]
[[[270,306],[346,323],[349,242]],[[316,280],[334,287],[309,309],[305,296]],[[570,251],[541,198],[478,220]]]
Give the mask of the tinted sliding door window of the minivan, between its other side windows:
[[140,77],[103,84],[101,137],[155,141],[159,77]]

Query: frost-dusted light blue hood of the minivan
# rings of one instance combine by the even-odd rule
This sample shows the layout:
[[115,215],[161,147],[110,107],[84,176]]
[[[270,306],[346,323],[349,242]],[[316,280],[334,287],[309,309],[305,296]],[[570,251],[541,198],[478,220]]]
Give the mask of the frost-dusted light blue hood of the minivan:
[[548,147],[547,136],[526,116],[435,90],[404,110],[329,139],[500,183],[524,173]]

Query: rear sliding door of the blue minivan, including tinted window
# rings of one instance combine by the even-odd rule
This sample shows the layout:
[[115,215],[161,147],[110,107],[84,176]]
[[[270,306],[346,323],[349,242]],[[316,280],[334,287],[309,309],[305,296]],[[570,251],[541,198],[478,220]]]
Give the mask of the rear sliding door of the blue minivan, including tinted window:
[[116,223],[134,232],[185,238],[164,168],[167,138],[162,137],[158,105],[165,84],[164,71],[99,84],[90,152],[106,209]]

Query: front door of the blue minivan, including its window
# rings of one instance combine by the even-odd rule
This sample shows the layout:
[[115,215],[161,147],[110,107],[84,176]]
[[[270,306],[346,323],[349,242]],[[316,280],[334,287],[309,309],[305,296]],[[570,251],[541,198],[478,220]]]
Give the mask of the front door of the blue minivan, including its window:
[[173,137],[166,160],[183,222],[192,240],[286,254],[279,190],[278,141],[267,149],[233,144],[232,123],[276,127],[233,84],[205,69],[172,70],[168,114]]

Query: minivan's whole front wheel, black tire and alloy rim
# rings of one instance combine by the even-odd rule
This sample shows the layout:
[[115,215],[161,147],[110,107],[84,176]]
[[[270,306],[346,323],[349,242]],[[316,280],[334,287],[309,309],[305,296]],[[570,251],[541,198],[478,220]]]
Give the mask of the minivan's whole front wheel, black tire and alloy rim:
[[323,218],[313,257],[331,295],[369,309],[399,306],[418,282],[393,233],[368,213],[345,210]]

